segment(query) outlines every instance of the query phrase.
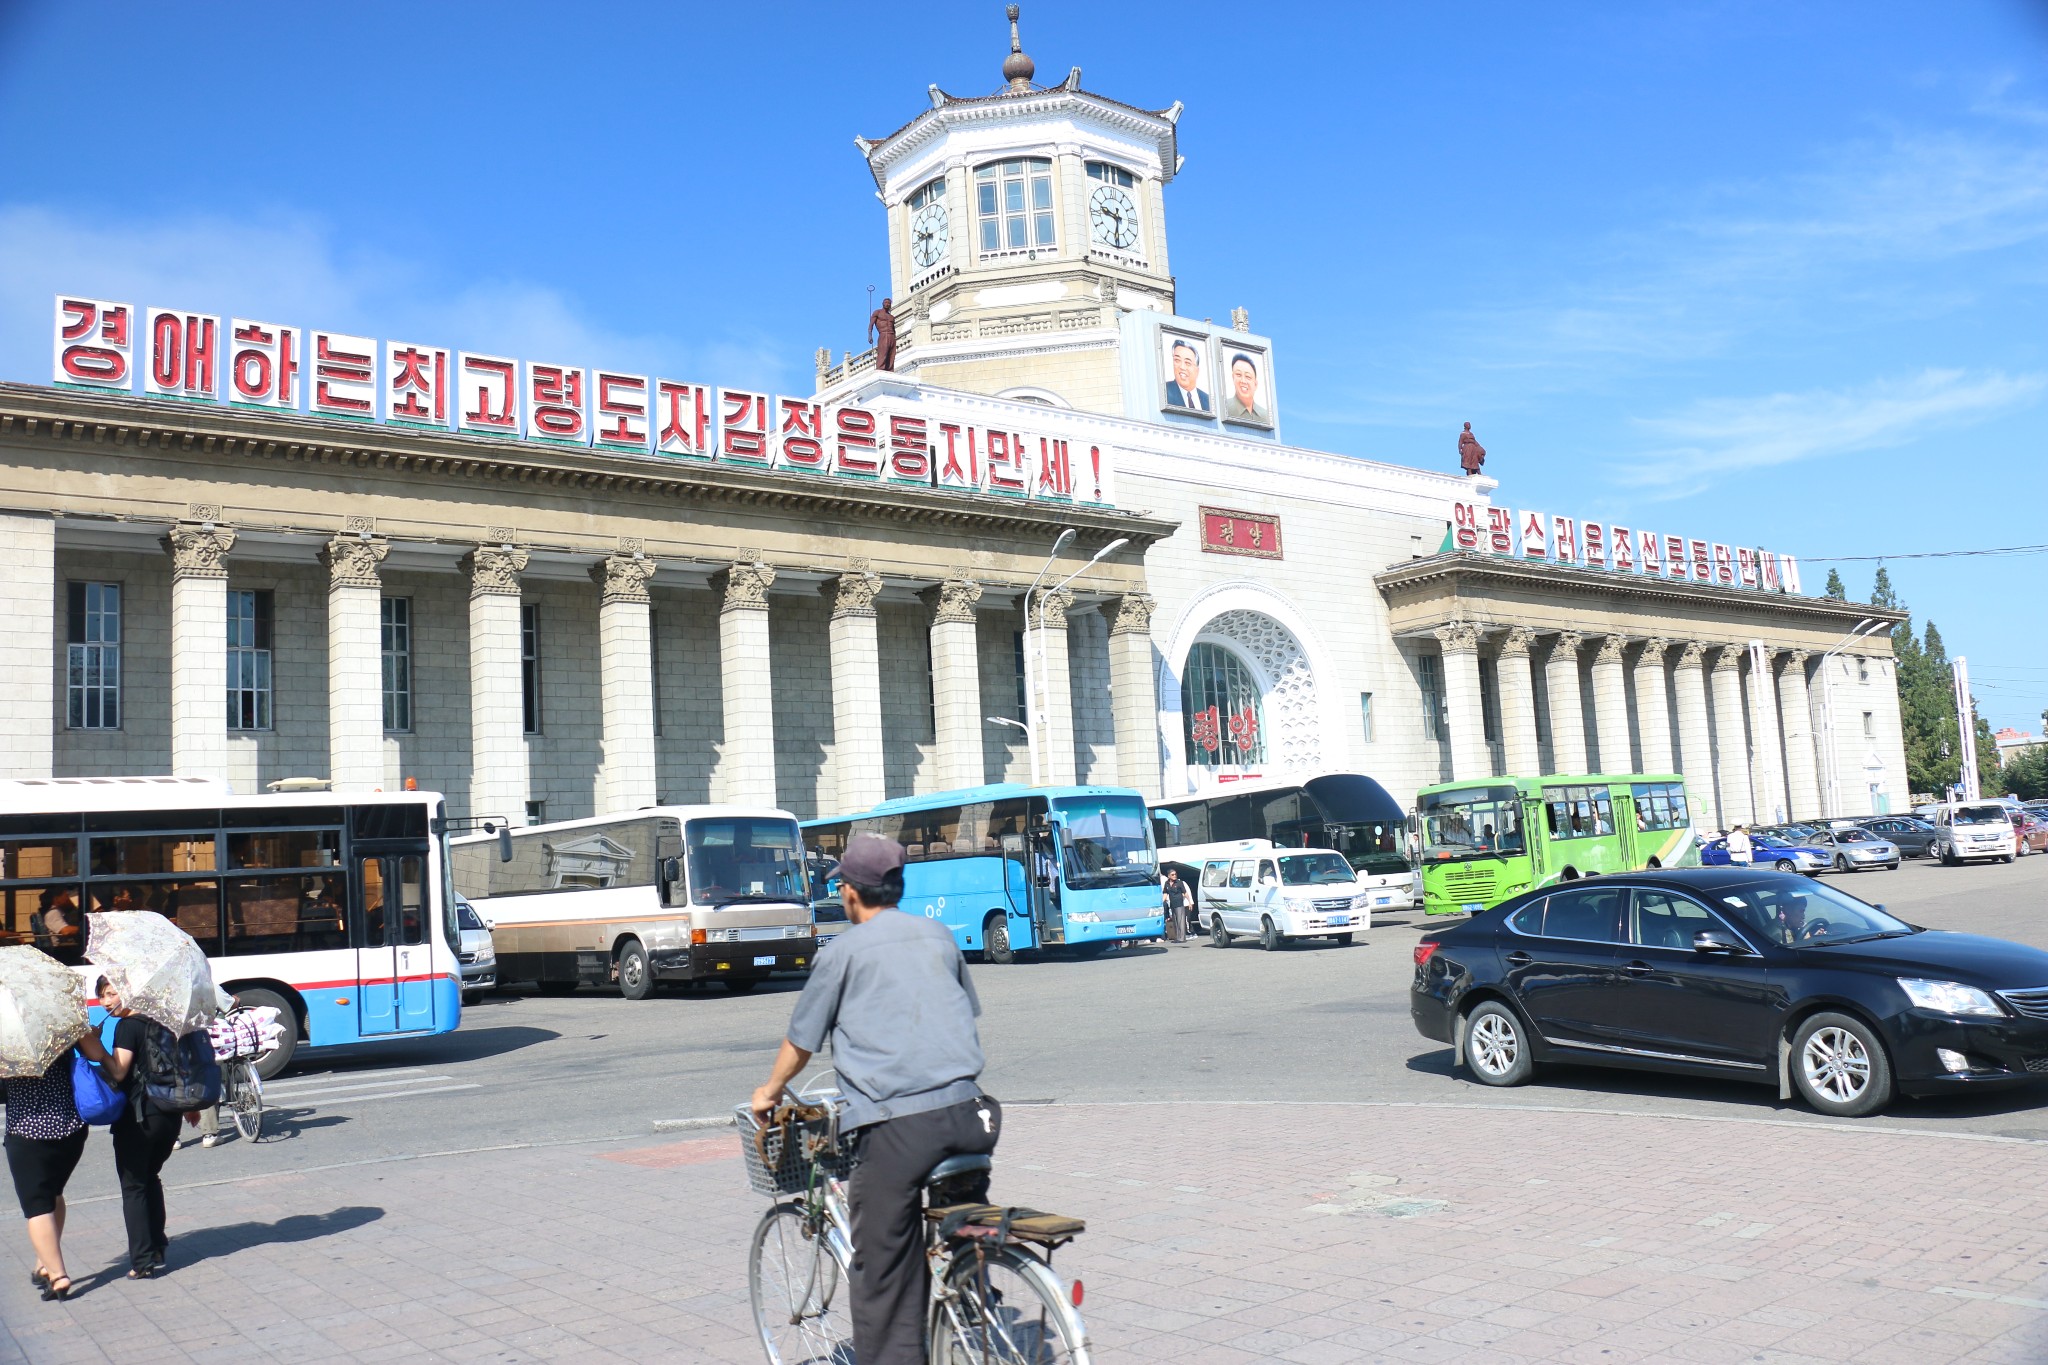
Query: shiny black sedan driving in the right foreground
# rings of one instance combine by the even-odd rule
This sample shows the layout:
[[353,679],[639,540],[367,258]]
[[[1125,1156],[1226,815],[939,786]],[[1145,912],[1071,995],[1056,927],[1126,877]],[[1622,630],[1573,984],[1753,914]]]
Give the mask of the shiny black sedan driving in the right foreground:
[[1409,1013],[1485,1085],[1632,1066],[1858,1115],[2048,1076],[2048,952],[1753,868],[1567,882],[1425,933]]

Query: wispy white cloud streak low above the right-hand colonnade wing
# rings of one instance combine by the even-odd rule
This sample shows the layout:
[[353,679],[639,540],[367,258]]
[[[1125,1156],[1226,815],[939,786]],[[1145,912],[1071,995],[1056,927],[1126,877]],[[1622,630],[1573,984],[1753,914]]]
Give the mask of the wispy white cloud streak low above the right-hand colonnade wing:
[[1686,497],[1751,469],[1903,446],[2034,403],[2044,389],[2048,375],[1923,370],[1858,389],[1702,399],[1638,420],[1651,444],[1614,477],[1655,499]]

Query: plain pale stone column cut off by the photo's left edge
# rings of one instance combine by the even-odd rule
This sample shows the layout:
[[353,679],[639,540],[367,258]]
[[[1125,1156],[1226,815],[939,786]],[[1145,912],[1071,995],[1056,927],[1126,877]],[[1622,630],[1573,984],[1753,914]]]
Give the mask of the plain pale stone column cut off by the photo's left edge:
[[0,563],[8,567],[0,579],[0,778],[51,778],[70,706],[49,661],[51,641],[59,641],[57,663],[66,663],[55,518],[0,512]]

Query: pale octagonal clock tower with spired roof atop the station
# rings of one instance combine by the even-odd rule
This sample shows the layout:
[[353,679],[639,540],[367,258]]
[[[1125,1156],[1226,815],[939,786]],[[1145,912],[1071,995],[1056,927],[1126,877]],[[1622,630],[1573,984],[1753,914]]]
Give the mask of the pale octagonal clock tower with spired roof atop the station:
[[932,86],[895,133],[854,139],[889,215],[897,370],[1122,415],[1122,317],[1174,311],[1165,184],[1182,106],[1092,94],[1081,68],[1032,84],[1014,4],[1001,70],[993,94]]

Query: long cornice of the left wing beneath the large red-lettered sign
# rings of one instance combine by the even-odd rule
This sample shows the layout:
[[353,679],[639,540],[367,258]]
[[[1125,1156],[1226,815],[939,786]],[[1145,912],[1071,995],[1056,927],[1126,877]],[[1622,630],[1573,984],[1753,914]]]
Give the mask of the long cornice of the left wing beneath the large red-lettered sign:
[[[1034,409],[1040,415],[1049,409]],[[0,442],[82,442],[147,458],[162,450],[217,460],[307,465],[393,479],[473,481],[535,491],[641,495],[676,503],[758,508],[827,520],[918,522],[967,532],[1042,534],[1063,526],[1153,542],[1178,522],[905,485],[776,475],[731,465],[688,465],[598,450],[532,446],[383,424],[281,417],[225,403],[68,393],[0,383]],[[47,510],[47,508],[43,508]]]

